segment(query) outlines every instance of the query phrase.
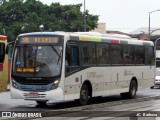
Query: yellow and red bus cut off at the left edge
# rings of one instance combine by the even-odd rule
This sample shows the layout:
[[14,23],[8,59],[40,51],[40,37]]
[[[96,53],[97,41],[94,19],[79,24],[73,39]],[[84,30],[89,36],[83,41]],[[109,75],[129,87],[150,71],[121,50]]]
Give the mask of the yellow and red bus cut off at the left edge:
[[0,92],[7,90],[8,81],[8,55],[6,54],[7,36],[0,35]]

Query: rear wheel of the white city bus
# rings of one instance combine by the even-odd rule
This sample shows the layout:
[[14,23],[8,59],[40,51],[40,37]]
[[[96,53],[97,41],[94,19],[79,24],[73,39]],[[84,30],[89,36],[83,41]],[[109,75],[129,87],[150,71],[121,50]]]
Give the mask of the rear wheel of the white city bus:
[[129,92],[127,93],[128,98],[134,98],[137,92],[137,83],[135,80],[132,80],[129,87]]

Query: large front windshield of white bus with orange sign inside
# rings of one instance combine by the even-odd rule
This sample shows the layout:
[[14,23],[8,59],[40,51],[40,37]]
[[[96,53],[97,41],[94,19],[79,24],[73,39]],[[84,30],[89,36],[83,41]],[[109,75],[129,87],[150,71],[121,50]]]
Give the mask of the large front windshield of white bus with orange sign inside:
[[55,77],[60,75],[62,46],[23,45],[15,49],[13,73],[27,77]]

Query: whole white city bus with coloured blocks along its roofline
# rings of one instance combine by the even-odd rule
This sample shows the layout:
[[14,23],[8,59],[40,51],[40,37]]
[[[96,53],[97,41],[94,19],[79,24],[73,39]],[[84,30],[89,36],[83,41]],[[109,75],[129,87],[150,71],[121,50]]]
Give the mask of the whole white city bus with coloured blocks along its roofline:
[[134,98],[154,85],[154,44],[125,36],[92,32],[20,34],[13,50],[11,98],[75,100],[120,94]]

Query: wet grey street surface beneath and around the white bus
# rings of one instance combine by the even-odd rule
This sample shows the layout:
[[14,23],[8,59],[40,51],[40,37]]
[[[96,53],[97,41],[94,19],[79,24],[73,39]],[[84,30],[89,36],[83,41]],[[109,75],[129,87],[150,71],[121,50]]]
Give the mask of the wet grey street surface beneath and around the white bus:
[[[123,100],[120,95],[102,99],[95,98],[90,105],[83,107],[77,106],[73,101],[57,104],[48,102],[46,106],[38,106],[34,101],[11,99],[8,91],[0,94],[2,98],[0,111],[18,112],[26,116],[28,113],[25,112],[35,112],[36,114],[40,112],[39,116],[42,116],[42,118],[34,117],[37,120],[160,120],[159,91],[159,88],[140,90],[137,92],[137,97],[132,100]],[[151,111],[153,115],[156,114],[159,117],[143,116],[151,113]],[[137,115],[142,116],[136,117]],[[3,117],[0,119],[8,118]]]

